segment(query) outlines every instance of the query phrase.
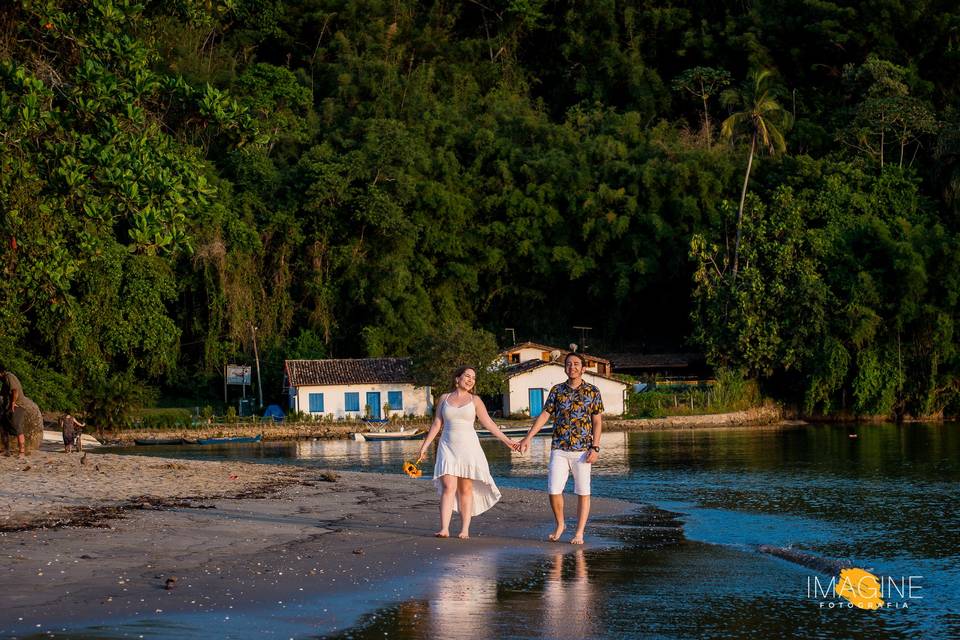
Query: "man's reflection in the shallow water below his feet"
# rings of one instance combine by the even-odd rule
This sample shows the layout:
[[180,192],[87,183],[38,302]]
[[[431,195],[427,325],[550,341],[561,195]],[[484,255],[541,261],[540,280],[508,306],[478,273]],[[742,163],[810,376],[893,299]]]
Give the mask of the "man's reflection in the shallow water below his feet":
[[542,636],[594,637],[594,616],[598,605],[595,595],[587,576],[587,556],[583,549],[568,556],[556,554],[543,586]]

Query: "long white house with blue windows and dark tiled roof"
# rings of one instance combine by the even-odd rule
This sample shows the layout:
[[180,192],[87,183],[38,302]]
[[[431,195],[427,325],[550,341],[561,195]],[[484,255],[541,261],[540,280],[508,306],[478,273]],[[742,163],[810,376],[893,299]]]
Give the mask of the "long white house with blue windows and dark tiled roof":
[[287,360],[283,366],[291,411],[377,420],[433,411],[430,387],[414,384],[408,358]]

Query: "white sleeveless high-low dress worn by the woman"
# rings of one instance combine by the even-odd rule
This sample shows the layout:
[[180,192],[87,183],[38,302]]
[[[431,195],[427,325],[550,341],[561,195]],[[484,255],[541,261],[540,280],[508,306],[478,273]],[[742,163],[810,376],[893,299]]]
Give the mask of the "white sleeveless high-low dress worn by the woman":
[[[437,447],[437,464],[433,467],[433,484],[437,493],[443,493],[440,476],[470,478],[473,483],[473,514],[479,515],[500,500],[500,490],[490,475],[487,457],[480,448],[480,438],[473,428],[477,409],[473,402],[455,407],[444,401],[440,409],[443,433]],[[453,510],[460,511],[460,500],[453,499]]]

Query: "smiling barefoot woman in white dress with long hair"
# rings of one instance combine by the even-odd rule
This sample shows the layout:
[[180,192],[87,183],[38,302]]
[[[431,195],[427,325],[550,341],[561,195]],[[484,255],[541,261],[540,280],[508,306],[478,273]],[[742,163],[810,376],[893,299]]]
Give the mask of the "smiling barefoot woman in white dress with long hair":
[[436,418],[417,457],[417,462],[427,457],[427,448],[442,426],[443,435],[440,436],[437,463],[433,468],[433,483],[440,494],[440,530],[435,534],[438,538],[450,537],[450,519],[454,511],[460,513],[463,523],[460,538],[469,538],[470,519],[500,500],[500,490],[493,482],[487,457],[483,455],[480,439],[473,428],[474,421],[479,420],[497,440],[519,451],[520,445],[500,431],[487,414],[483,402],[474,395],[476,381],[477,372],[472,367],[457,369],[454,390],[440,398]]

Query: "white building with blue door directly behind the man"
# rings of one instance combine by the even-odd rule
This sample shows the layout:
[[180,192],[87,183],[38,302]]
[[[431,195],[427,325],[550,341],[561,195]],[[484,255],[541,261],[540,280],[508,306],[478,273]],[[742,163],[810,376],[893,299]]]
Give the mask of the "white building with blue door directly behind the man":
[[[512,364],[504,369],[507,392],[503,394],[503,415],[526,414],[535,418],[543,411],[553,385],[564,382],[567,374],[563,362],[546,362],[539,358]],[[583,380],[600,389],[604,415],[623,415],[629,385],[609,376],[584,370]]]

